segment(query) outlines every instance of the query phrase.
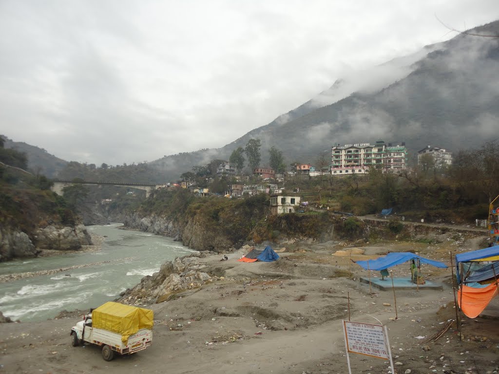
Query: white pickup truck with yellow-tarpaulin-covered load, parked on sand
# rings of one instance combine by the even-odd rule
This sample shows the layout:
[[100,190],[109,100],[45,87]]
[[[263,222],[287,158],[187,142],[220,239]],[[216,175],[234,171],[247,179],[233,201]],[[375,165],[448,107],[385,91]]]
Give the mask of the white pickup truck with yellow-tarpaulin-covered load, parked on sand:
[[115,353],[131,355],[152,344],[152,310],[108,302],[84,316],[71,329],[71,345],[83,343],[102,347],[102,358],[111,361]]

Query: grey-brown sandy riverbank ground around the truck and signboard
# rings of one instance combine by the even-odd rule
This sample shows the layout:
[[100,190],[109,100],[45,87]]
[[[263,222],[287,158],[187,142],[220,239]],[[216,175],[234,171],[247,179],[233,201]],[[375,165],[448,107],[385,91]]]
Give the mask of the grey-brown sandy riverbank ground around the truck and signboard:
[[[437,260],[445,260],[449,249],[413,243],[364,249],[376,256],[409,247]],[[358,282],[367,272],[350,265],[349,258],[332,256],[337,249],[284,253],[273,263],[238,262],[241,252],[229,254],[228,261],[200,259],[217,280],[175,300],[147,305],[156,320],[152,347],[112,362],[103,361],[97,347],[70,346],[69,331],[79,313],[2,324],[0,373],[348,373],[341,323],[348,319],[348,294],[352,321],[376,323],[375,317],[389,328],[394,363],[400,363],[396,373],[497,370],[497,319],[465,319],[463,342],[454,327],[437,342],[416,338],[435,334],[455,318],[450,269],[426,272],[444,284],[443,291],[397,291],[394,321],[393,292],[371,295]],[[395,275],[407,272],[408,267],[395,268]],[[384,360],[354,354],[350,360],[352,373],[388,373]]]

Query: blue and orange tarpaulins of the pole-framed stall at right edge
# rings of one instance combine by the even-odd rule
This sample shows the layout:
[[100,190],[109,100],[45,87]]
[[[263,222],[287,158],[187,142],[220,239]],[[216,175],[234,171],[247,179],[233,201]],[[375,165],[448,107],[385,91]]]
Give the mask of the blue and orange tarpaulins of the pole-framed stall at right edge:
[[[498,245],[456,255],[457,280],[460,284],[458,304],[468,317],[477,317],[498,295],[498,260]],[[493,262],[482,266],[477,264],[489,261]]]

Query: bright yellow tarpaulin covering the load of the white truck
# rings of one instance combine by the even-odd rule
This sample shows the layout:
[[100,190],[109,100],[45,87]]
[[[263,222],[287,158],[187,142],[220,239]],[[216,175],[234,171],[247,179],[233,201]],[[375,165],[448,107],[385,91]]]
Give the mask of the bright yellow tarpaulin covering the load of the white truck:
[[121,334],[121,341],[141,329],[153,328],[152,310],[132,307],[120,303],[107,302],[92,312],[92,327]]

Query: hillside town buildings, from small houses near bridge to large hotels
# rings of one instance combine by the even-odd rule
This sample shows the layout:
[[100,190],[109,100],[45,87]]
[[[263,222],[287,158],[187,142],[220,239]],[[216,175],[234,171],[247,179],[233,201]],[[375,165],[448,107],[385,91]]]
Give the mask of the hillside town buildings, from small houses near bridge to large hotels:
[[[279,152],[278,150],[276,150]],[[178,183],[168,183],[160,188],[186,188],[198,196],[219,195],[227,198],[253,196],[258,193],[271,195],[270,206],[272,214],[303,212],[309,208],[308,201],[300,201],[296,194],[298,189],[286,190],[284,182],[288,178],[328,178],[365,176],[371,170],[382,173],[401,174],[410,171],[409,154],[405,142],[400,145],[385,143],[382,140],[374,143],[354,143],[331,147],[329,165],[312,165],[295,163],[290,171],[270,167],[256,167],[251,175],[238,173],[237,167],[230,161],[222,160],[216,169],[219,178],[227,178],[236,183],[227,185],[223,193],[212,192],[210,187],[200,187],[191,173],[186,173]],[[452,165],[452,153],[446,149],[428,145],[417,152],[415,167],[442,169]],[[205,179],[206,185],[214,182],[214,177]],[[254,183],[246,183],[253,181]],[[293,193],[294,192],[294,193]],[[106,203],[108,201],[106,200]],[[319,207],[319,206],[318,206]],[[320,206],[322,207],[322,206]],[[329,206],[326,207],[329,209]]]

